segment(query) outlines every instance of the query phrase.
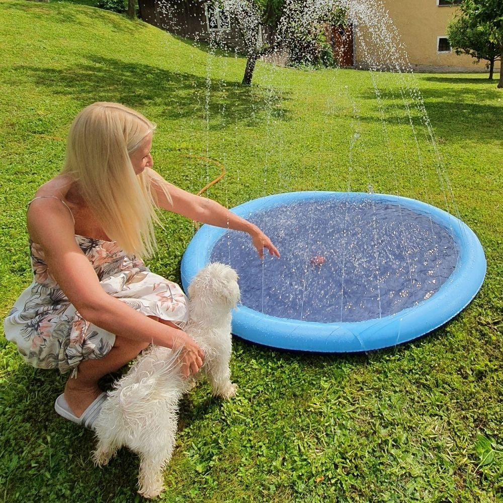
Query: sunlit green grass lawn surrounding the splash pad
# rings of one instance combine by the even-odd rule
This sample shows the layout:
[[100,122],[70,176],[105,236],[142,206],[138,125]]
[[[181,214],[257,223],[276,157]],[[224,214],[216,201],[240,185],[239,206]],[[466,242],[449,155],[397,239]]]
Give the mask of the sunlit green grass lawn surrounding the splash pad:
[[[227,175],[209,196],[228,207],[291,190],[399,194],[459,216],[484,247],[474,301],[412,343],[313,355],[234,339],[238,396],[223,403],[204,385],[183,399],[161,501],[503,501],[495,81],[259,63],[245,89],[244,59],[93,7],[0,0],[0,27],[2,318],[31,282],[26,204],[58,173],[73,117],[95,101],[154,121],[155,167],[186,190],[222,162]],[[164,222],[149,265],[179,281],[195,228]],[[95,468],[92,433],[55,414],[65,376],[29,367],[5,338],[0,349],[0,498],[140,501],[137,457],[122,450]]]

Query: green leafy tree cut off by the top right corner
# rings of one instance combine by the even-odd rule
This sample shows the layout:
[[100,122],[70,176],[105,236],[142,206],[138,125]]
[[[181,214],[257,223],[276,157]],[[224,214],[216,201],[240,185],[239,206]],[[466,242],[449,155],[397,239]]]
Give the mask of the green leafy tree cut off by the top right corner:
[[[501,0],[463,0],[459,7],[470,29],[485,27],[489,33],[490,42],[496,45],[500,63],[503,64],[503,2]],[[503,89],[503,69],[501,68],[498,89]]]

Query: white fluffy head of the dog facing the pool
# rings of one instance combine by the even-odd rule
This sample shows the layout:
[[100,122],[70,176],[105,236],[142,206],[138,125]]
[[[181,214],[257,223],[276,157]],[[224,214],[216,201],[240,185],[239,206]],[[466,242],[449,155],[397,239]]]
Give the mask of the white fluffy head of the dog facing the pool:
[[189,297],[205,303],[218,302],[232,309],[240,300],[237,273],[230,266],[213,262],[201,269],[189,286]]

